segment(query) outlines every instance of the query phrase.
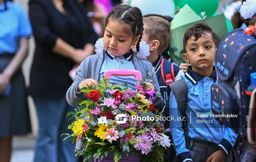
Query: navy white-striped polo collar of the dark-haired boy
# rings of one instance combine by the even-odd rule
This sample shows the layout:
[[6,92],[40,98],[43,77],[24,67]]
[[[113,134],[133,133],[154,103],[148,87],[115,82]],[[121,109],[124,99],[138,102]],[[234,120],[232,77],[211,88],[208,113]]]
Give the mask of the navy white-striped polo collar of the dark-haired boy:
[[[205,78],[204,76],[198,74],[197,72],[192,70],[191,65],[188,66],[188,70],[185,73],[185,77],[192,83],[192,84],[196,84],[196,82],[199,79]],[[211,77],[215,77],[217,79],[217,73],[215,71],[215,67],[213,66],[213,72],[212,75],[209,76],[209,78]]]

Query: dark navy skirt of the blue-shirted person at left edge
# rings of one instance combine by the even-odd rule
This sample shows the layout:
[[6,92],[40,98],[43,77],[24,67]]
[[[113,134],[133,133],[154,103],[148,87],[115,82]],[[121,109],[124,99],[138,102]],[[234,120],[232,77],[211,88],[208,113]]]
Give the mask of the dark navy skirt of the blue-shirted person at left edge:
[[[0,73],[13,55],[0,55]],[[31,132],[25,80],[20,69],[11,80],[9,96],[0,95],[0,137],[23,135]]]

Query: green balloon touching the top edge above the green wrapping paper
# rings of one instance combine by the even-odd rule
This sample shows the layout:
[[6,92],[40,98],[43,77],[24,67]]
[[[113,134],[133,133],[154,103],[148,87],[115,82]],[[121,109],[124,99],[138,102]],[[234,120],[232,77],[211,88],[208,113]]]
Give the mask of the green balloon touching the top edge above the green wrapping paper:
[[205,11],[207,17],[212,16],[218,8],[219,0],[174,0],[175,8],[179,6],[181,9],[185,4],[188,4],[189,7],[196,13]]

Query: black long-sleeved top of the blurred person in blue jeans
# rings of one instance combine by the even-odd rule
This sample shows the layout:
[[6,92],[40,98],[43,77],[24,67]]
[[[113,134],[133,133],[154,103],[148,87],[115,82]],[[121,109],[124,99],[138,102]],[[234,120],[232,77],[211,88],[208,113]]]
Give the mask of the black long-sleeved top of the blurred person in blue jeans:
[[58,37],[76,49],[96,42],[97,35],[83,7],[76,0],[65,0],[64,9],[65,15],[55,9],[52,0],[29,1],[36,43],[28,90],[32,96],[62,98],[73,82],[68,72],[74,62],[52,52]]

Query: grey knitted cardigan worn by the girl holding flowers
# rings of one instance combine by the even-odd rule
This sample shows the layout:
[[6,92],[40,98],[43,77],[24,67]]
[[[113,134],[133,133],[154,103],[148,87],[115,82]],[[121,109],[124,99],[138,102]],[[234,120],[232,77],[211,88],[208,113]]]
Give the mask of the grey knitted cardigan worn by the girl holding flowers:
[[[68,104],[75,107],[76,103],[78,101],[84,100],[85,96],[82,93],[78,93],[79,91],[79,84],[81,81],[89,78],[93,78],[96,81],[99,81],[99,71],[100,67],[102,66],[102,63],[105,59],[105,51],[102,53],[98,53],[95,55],[88,56],[77,68],[76,70],[76,77],[73,84],[70,86],[70,88],[67,90],[66,93],[66,99]],[[135,66],[136,70],[139,70],[142,73],[143,78],[148,77],[148,72],[151,72],[153,67],[152,64],[149,61],[143,60],[141,58],[138,58],[137,55],[133,54],[132,62]],[[154,91],[160,92],[159,84],[157,81],[156,73],[152,73],[152,83],[154,84]],[[162,97],[157,98],[155,102],[156,109],[162,110],[164,106],[164,101]]]

